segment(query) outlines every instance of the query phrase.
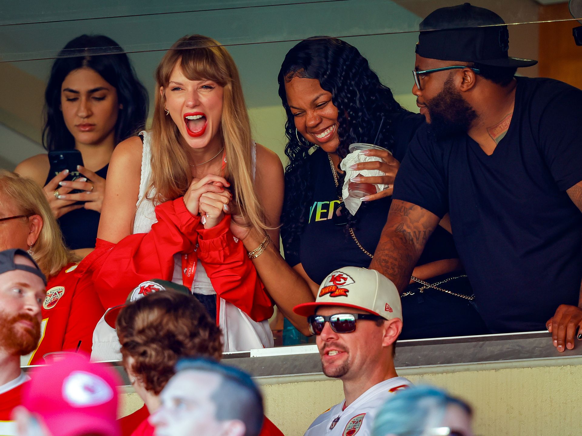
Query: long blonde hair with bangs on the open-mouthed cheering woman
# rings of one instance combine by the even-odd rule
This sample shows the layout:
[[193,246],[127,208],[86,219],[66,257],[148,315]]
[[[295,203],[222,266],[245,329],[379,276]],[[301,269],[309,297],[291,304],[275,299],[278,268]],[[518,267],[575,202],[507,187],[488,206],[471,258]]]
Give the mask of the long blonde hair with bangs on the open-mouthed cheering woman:
[[[253,183],[251,127],[235,61],[224,47],[202,35],[180,38],[164,55],[155,71],[160,87],[167,88],[172,70],[180,65],[189,80],[212,80],[223,87],[221,134],[226,153],[225,178],[234,188],[233,197],[251,226],[267,230]],[[186,192],[192,180],[180,132],[166,116],[165,97],[156,93],[152,121],[152,176],[148,199],[161,203]]]

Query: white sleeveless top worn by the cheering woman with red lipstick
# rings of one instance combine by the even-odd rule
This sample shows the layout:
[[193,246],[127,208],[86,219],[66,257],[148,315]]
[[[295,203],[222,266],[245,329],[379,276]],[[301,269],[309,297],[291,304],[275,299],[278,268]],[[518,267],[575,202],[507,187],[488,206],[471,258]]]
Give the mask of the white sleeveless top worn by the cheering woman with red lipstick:
[[[155,219],[155,205],[154,202],[146,198],[148,187],[150,187],[151,178],[151,134],[147,131],[140,133],[143,135],[143,153],[141,155],[141,179],[140,179],[140,195],[137,199],[136,216],[133,220],[133,233],[149,233],[151,226],[158,222]],[[253,180],[255,178],[256,161],[257,161],[257,144],[253,142],[251,147],[251,156],[253,162]],[[150,197],[155,197],[155,192],[152,192]],[[172,274],[172,282],[183,284],[182,282],[182,256],[180,254],[174,255],[174,272]],[[194,281],[191,290],[195,294],[212,295],[216,291],[210,283],[210,278],[204,270],[204,266],[200,260],[196,263],[196,273],[194,273]]]

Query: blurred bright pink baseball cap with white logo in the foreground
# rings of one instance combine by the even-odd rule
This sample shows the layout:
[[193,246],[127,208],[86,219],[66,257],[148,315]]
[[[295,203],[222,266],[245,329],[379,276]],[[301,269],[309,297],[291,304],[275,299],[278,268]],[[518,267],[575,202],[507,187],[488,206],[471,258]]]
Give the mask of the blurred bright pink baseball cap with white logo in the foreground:
[[22,405],[41,417],[52,436],[120,436],[119,385],[112,367],[70,353],[33,371],[23,389]]

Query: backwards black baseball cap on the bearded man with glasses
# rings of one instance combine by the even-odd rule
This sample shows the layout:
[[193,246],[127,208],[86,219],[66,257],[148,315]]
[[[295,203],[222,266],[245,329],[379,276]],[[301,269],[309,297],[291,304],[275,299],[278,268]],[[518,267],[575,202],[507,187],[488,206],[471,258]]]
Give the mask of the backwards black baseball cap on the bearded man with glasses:
[[496,67],[531,67],[533,59],[508,56],[509,31],[495,12],[470,3],[431,12],[420,23],[415,52],[423,58],[477,62]]

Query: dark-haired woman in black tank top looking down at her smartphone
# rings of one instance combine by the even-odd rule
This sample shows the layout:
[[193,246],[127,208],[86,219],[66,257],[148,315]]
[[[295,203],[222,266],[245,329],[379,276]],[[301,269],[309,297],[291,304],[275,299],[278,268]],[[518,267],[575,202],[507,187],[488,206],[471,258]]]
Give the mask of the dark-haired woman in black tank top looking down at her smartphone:
[[[101,55],[103,48],[114,54]],[[41,154],[21,162],[16,172],[44,187],[65,244],[81,257],[95,246],[113,148],[144,127],[147,101],[129,58],[104,35],[74,38],[52,66],[43,145],[49,152],[77,150],[83,165],[55,175]]]

